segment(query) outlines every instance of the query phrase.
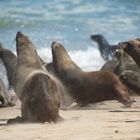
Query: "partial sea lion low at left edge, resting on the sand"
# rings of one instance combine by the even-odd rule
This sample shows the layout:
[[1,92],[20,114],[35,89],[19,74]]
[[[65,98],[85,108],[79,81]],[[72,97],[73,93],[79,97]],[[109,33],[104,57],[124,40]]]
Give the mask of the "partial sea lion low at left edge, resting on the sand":
[[15,103],[10,98],[3,81],[0,79],[0,107],[14,106]]

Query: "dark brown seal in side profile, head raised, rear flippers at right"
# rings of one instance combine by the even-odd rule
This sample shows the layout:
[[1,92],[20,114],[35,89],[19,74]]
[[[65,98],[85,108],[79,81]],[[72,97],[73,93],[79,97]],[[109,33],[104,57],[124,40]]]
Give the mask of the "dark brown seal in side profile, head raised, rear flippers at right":
[[81,106],[106,100],[118,100],[127,107],[132,100],[127,87],[119,78],[108,71],[84,72],[69,57],[65,48],[52,43],[55,73]]

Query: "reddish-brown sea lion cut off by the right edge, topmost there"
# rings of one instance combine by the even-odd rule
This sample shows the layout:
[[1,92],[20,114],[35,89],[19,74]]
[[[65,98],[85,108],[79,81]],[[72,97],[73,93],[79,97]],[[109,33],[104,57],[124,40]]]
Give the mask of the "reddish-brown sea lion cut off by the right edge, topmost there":
[[128,53],[140,67],[140,41],[130,40],[127,42],[121,42],[120,45],[124,46],[124,51]]

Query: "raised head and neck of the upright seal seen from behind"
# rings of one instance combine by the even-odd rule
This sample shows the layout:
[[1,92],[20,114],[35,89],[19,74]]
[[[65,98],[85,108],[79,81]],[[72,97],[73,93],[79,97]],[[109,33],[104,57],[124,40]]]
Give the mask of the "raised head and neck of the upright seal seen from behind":
[[40,67],[41,62],[37,54],[36,47],[28,36],[21,32],[17,32],[16,35],[16,50],[18,63],[26,66]]

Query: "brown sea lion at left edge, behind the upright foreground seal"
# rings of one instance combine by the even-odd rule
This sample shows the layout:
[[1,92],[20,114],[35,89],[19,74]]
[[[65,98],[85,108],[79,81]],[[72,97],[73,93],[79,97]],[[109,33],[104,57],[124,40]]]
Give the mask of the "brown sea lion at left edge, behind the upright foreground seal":
[[0,44],[0,58],[6,67],[9,85],[10,87],[13,87],[15,84],[15,69],[17,65],[16,55],[11,50],[4,48],[2,44]]

